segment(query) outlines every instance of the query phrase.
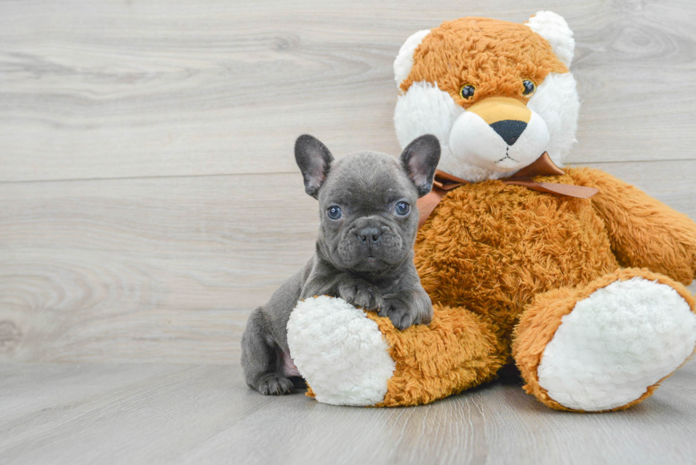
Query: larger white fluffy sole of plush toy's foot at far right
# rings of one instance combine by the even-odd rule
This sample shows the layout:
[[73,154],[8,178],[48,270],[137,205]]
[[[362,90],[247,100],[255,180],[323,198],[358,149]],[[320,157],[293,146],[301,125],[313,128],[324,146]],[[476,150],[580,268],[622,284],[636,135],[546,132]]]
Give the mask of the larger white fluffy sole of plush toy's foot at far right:
[[696,345],[696,315],[668,285],[616,281],[580,302],[546,346],[541,387],[565,407],[626,405],[672,373]]

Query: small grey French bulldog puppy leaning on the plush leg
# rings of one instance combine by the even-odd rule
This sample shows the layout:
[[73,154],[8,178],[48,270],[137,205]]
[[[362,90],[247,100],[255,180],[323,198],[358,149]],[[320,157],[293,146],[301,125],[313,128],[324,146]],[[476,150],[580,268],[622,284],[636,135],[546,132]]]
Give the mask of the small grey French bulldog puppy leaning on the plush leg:
[[416,138],[396,159],[357,152],[334,161],[316,138],[295,142],[305,191],[319,200],[320,231],[312,259],[249,316],[241,337],[246,383],[261,394],[304,386],[288,349],[287,325],[298,300],[342,297],[376,310],[398,329],[433,319],[430,297],[413,265],[415,201],[433,187],[440,143]]

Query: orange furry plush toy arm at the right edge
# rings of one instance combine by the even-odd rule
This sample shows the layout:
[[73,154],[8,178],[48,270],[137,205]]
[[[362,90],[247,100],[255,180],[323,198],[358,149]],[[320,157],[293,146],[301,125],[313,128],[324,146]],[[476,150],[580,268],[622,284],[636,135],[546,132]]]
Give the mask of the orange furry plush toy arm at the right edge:
[[648,268],[691,283],[696,275],[694,221],[604,171],[569,168],[567,174],[578,185],[599,189],[592,204],[621,266]]

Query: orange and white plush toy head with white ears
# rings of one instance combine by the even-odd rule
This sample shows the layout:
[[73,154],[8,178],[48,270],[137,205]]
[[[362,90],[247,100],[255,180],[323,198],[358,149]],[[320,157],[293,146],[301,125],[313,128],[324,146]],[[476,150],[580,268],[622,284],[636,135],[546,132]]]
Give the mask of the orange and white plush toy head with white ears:
[[418,31],[394,61],[399,143],[435,134],[438,168],[474,182],[509,177],[544,152],[562,165],[580,107],[574,48],[550,11],[524,24],[460,18]]

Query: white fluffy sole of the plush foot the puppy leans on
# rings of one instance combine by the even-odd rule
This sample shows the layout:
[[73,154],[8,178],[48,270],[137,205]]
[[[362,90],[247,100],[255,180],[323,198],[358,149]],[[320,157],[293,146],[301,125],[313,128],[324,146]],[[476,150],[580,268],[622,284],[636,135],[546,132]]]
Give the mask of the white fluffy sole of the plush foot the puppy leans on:
[[384,399],[395,363],[377,324],[345,300],[298,302],[288,321],[288,346],[318,401],[374,405]]

